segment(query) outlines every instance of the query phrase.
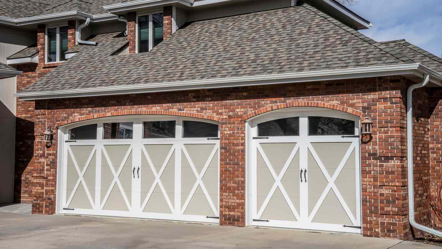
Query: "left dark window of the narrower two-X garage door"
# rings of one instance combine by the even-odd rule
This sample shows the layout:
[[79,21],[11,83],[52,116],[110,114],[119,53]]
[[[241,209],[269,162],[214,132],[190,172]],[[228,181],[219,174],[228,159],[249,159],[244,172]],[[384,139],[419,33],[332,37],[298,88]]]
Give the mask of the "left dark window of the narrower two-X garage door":
[[299,136],[299,117],[274,119],[258,124],[259,137]]

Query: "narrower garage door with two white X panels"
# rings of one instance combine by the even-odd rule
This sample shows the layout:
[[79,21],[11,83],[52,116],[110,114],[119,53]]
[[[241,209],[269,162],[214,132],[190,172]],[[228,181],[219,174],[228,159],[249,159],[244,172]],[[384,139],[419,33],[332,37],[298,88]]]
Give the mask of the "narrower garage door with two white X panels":
[[249,124],[250,225],[361,232],[358,117],[291,108]]

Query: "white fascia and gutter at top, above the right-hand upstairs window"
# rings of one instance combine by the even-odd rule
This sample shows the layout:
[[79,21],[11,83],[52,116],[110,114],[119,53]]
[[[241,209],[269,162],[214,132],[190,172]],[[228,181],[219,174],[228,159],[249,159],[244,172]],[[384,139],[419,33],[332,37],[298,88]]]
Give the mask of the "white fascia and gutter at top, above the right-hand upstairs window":
[[183,4],[187,7],[191,7],[193,1],[191,0],[137,0],[119,4],[111,4],[103,6],[103,8],[109,12],[121,12],[132,11],[140,8],[151,8],[157,5],[163,4]]

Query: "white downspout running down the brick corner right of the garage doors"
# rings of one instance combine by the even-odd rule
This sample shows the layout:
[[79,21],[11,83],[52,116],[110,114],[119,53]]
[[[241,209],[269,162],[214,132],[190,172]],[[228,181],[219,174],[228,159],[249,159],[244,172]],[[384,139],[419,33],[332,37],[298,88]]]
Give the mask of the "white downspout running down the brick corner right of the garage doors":
[[407,90],[407,167],[408,167],[408,217],[410,225],[424,232],[442,237],[442,232],[418,224],[414,217],[414,179],[413,179],[413,90],[424,87],[430,75],[425,74],[422,83],[411,85]]

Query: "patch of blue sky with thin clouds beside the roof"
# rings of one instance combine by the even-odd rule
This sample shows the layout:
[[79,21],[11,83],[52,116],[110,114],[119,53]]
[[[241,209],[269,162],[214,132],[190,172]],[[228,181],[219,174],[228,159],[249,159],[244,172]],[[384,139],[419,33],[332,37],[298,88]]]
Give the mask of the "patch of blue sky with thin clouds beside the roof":
[[405,39],[442,55],[442,0],[358,0],[352,11],[373,23],[361,33],[376,41]]

